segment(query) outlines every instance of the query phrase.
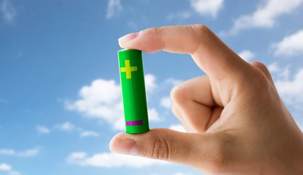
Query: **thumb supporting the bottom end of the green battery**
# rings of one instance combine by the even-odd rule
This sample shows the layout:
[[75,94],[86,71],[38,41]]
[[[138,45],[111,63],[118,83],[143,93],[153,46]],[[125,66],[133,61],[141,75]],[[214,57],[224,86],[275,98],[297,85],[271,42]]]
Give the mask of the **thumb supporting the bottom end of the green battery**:
[[203,160],[210,160],[214,137],[206,133],[182,133],[170,129],[152,129],[143,134],[117,134],[110,143],[110,149],[119,154],[128,154],[173,163],[201,166]]

